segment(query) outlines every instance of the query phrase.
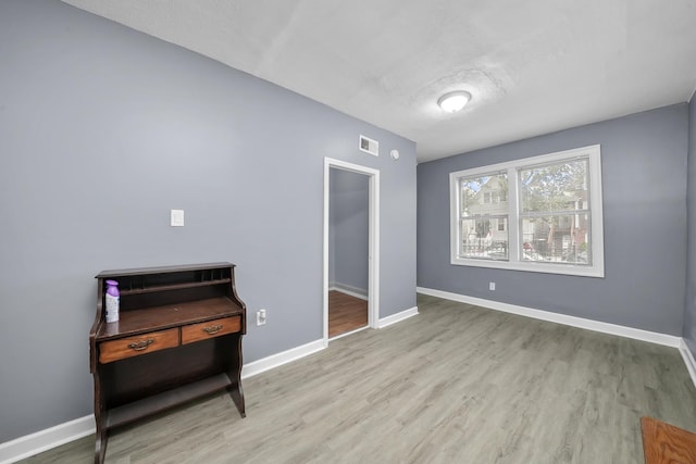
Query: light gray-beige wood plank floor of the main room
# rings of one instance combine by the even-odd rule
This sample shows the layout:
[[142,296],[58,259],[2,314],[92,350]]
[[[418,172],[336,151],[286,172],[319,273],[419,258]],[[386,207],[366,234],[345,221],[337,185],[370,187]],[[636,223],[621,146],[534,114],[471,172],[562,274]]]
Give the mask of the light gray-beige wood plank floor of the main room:
[[[643,463],[641,416],[696,431],[673,348],[419,297],[363,330],[112,434],[108,463]],[[29,463],[88,463],[92,438]]]

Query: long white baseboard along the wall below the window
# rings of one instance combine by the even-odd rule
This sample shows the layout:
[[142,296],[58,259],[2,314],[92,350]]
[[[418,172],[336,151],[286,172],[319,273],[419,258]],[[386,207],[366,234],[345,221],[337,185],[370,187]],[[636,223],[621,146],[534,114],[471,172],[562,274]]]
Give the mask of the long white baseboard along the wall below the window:
[[474,304],[476,306],[488,308],[490,310],[533,317],[535,319],[548,321],[552,323],[569,325],[572,327],[600,331],[602,334],[618,335],[620,337],[633,338],[642,341],[649,341],[656,344],[663,344],[672,348],[680,348],[683,343],[681,337],[660,334],[657,331],[643,330],[639,328],[625,327],[617,324],[602,323],[583,317],[569,316],[566,314],[551,313],[550,311],[534,310],[532,308],[518,306],[517,304],[501,303],[499,301],[485,300],[483,298],[468,297],[465,294],[450,293],[448,291],[433,290],[418,287],[417,291],[432,297],[446,300],[458,301],[460,303]]

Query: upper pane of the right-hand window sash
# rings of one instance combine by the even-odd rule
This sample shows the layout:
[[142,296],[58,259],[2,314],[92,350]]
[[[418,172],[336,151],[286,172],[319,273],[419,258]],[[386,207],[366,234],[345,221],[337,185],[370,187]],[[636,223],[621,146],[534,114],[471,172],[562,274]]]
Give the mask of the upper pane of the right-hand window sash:
[[571,160],[521,168],[522,213],[554,213],[587,209],[588,160]]

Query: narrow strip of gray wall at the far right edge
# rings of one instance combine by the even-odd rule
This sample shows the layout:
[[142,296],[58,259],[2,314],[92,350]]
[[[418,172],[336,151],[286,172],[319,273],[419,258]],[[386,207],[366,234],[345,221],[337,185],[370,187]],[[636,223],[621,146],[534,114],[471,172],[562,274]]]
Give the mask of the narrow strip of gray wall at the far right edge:
[[696,358],[696,98],[688,105],[688,266],[684,311],[684,340]]

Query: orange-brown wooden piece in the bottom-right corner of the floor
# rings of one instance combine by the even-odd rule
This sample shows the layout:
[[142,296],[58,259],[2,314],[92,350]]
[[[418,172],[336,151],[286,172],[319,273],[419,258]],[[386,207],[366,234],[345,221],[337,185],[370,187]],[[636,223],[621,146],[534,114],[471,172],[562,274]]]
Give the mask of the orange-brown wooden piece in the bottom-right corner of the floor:
[[645,464],[696,464],[696,434],[641,417]]

